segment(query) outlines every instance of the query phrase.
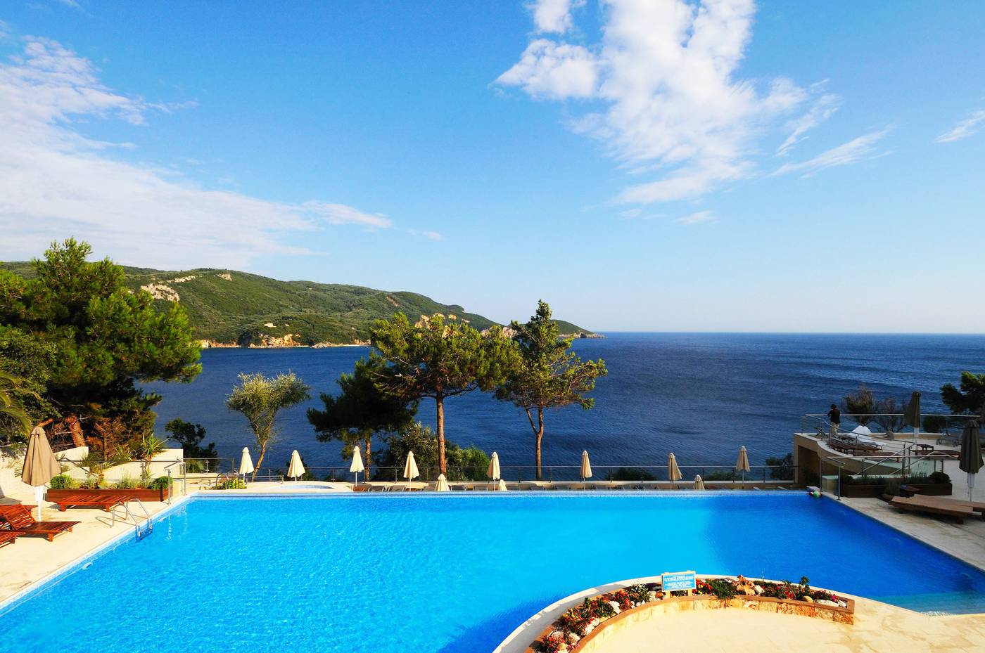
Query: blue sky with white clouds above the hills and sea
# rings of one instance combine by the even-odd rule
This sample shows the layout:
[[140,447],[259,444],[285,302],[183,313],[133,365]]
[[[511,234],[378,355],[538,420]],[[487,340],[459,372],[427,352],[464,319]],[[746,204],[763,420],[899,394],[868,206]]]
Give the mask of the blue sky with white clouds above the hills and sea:
[[612,330],[985,324],[980,2],[15,0],[0,21],[0,259],[75,235]]

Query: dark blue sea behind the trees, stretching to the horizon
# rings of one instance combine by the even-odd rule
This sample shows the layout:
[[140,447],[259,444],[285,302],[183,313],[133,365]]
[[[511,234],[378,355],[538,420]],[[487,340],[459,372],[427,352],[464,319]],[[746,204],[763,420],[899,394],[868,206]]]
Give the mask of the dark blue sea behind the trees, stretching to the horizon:
[[[595,406],[551,410],[546,417],[544,464],[570,476],[582,451],[601,477],[620,466],[665,466],[674,452],[685,476],[703,466],[734,465],[746,446],[751,462],[782,456],[805,413],[824,413],[831,403],[865,384],[877,397],[905,401],[922,392],[924,414],[947,410],[940,387],[960,373],[985,372],[985,335],[791,334],[791,333],[606,333],[573,344],[582,359],[605,360],[607,377],[591,396]],[[246,420],[225,399],[240,373],[294,372],[312,398],[283,411],[269,466],[286,468],[293,449],[321,477],[347,471],[338,442],[318,442],[307,422],[320,393],[335,394],[339,375],[353,369],[366,347],[206,349],[202,374],[190,384],[154,383],[163,396],[157,431],[175,417],[201,424],[206,443],[231,459],[253,447]],[[434,403],[421,403],[418,418],[433,426]],[[457,445],[496,451],[503,476],[531,472],[534,437],[522,410],[475,391],[445,401],[445,436]],[[268,466],[265,463],[265,466]],[[707,473],[707,471],[705,471]],[[575,474],[576,476],[576,474]]]

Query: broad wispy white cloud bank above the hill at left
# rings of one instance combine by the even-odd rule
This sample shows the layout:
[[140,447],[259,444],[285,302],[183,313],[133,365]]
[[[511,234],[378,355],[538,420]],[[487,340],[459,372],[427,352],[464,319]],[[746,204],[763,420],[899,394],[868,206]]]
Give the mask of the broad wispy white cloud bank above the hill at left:
[[242,267],[259,255],[305,253],[287,244],[298,232],[391,225],[385,215],[341,204],[203,189],[173,170],[118,160],[112,154],[126,144],[74,128],[93,118],[140,125],[148,112],[175,108],[108,89],[89,60],[27,38],[22,54],[0,63],[0,258],[36,254],[74,235],[129,263]]

